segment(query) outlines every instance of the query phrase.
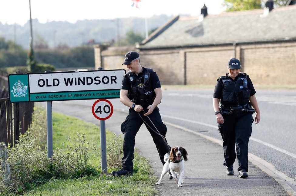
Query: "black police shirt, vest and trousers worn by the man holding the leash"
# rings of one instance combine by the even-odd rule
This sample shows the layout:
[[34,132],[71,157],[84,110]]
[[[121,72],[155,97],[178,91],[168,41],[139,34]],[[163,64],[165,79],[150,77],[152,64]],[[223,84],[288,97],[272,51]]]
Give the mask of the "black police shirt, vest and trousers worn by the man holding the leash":
[[[143,71],[138,75],[130,71],[127,72],[123,77],[121,89],[128,90],[128,98],[137,105],[141,105],[143,110],[147,113],[147,107],[153,103],[155,98],[154,89],[159,87],[160,81],[156,72],[152,69],[143,67]],[[139,116],[139,114],[143,119]],[[153,110],[153,112],[149,115],[149,118],[156,126],[160,134],[165,136],[167,133],[167,127],[161,120],[158,107]],[[156,133],[157,131],[155,130],[153,124],[147,116],[144,116],[144,112],[141,111],[138,113],[134,109],[130,108],[126,120],[121,125],[121,131],[124,134],[122,165],[123,169],[131,172],[133,171],[135,137],[140,129],[140,126],[144,123],[143,120],[145,121],[145,126],[153,138],[160,160],[163,164],[165,163],[163,161],[164,155],[169,152],[168,145],[164,142],[163,138]],[[154,132],[151,128],[156,132]]]

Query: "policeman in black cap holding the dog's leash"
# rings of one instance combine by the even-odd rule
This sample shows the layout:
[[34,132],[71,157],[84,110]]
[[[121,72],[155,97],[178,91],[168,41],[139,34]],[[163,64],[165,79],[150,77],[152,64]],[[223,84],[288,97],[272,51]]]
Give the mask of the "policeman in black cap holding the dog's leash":
[[158,76],[152,69],[140,65],[140,55],[136,51],[126,53],[122,64],[127,65],[130,71],[123,77],[120,101],[130,107],[130,110],[121,125],[121,132],[124,134],[122,169],[111,172],[113,176],[133,175],[135,137],[143,122],[153,138],[163,164],[163,157],[169,152],[165,139],[167,127],[163,124],[157,107],[162,99]]

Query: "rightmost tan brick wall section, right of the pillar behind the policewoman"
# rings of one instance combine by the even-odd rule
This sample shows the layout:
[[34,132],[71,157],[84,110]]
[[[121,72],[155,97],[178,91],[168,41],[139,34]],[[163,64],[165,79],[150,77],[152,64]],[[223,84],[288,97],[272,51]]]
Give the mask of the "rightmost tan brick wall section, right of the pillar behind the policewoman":
[[296,84],[296,43],[241,46],[243,71],[255,84]]

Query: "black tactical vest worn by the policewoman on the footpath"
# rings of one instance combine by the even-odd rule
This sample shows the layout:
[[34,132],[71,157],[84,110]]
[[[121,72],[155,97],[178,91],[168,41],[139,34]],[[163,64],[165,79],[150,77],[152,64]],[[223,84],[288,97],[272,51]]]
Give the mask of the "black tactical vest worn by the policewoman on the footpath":
[[247,77],[245,73],[239,73],[237,81],[234,82],[228,76],[221,76],[220,80],[223,85],[221,105],[224,106],[244,106],[249,102],[251,90],[247,85]]

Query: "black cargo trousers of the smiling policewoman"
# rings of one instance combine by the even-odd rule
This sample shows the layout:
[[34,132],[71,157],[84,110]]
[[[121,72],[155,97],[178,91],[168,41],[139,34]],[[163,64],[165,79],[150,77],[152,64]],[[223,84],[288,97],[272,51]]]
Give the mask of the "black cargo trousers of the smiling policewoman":
[[248,172],[248,145],[252,133],[252,113],[223,114],[224,123],[218,123],[218,129],[223,139],[224,166],[233,165],[236,156],[238,171]]

